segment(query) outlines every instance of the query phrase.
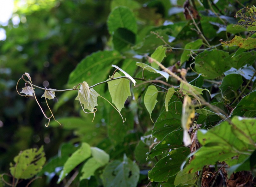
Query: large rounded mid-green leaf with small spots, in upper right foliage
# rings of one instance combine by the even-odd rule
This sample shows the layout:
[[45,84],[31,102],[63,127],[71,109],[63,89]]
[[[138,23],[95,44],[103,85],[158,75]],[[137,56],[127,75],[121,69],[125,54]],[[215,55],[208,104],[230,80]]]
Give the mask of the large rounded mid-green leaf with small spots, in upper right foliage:
[[229,53],[221,50],[211,50],[199,53],[195,57],[195,67],[205,79],[215,79],[221,76],[229,67]]

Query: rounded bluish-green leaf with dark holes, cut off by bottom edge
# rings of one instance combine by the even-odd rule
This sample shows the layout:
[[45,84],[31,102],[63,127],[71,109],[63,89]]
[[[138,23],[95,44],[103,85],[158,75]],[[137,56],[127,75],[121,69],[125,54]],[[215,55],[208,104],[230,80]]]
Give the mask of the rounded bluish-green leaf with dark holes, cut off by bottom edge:
[[104,187],[136,187],[139,180],[139,167],[124,155],[124,161],[114,160],[105,167],[102,174]]

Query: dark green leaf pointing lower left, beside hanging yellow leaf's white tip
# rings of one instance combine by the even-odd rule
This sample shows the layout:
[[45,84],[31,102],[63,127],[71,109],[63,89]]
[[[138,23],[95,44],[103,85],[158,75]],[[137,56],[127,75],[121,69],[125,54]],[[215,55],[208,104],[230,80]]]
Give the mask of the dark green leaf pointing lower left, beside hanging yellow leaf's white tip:
[[154,158],[157,155],[164,154],[170,149],[184,147],[182,143],[182,137],[182,130],[175,130],[171,132],[170,134],[166,135],[164,139],[159,142],[153,149],[151,149],[148,156],[150,156],[150,158]]

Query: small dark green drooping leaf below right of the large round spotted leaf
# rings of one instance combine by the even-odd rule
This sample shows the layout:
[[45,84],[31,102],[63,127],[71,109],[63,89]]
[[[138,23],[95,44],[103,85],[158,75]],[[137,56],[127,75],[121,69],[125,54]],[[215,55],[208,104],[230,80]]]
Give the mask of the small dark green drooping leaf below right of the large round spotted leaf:
[[220,85],[222,94],[227,90],[233,90],[237,92],[238,88],[242,85],[243,79],[241,75],[229,74],[225,76]]

